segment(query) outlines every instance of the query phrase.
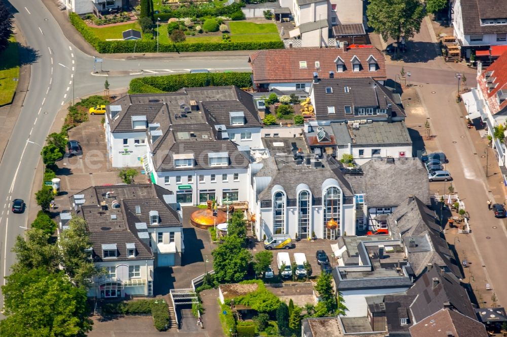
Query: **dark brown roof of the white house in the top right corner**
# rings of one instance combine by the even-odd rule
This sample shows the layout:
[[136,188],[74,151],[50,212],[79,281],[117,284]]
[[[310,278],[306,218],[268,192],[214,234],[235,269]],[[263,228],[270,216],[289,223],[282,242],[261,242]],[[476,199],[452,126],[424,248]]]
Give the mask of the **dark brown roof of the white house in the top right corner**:
[[[482,19],[504,19],[507,17],[507,2],[504,0],[460,0],[464,34],[507,33],[507,25],[481,26]],[[485,43],[486,44],[486,43]]]

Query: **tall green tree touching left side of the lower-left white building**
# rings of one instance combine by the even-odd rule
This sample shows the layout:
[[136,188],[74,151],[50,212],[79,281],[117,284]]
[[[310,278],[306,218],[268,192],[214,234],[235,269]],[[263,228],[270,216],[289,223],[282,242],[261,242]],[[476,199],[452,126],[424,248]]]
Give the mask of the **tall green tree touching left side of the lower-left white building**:
[[78,286],[89,287],[93,276],[99,274],[90,258],[92,242],[87,231],[86,221],[73,217],[67,223],[68,229],[60,233],[60,264],[65,274]]

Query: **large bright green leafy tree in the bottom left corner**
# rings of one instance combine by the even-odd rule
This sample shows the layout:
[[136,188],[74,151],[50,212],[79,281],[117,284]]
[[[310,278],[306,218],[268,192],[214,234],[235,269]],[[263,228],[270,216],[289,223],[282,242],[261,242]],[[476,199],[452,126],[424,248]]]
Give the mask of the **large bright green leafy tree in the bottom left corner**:
[[91,330],[86,289],[74,287],[62,272],[25,269],[7,281],[0,335],[71,337]]

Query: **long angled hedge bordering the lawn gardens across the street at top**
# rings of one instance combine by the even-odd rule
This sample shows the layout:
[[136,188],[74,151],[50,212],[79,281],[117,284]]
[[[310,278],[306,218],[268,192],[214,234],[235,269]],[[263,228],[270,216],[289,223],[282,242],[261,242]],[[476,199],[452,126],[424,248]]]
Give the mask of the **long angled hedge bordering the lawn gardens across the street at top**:
[[[156,40],[137,41],[102,41],[86,25],[76,13],[69,13],[70,22],[83,35],[90,45],[99,53],[156,53]],[[228,50],[259,50],[259,49],[282,49],[283,42],[280,41],[250,41],[250,42],[214,42],[214,43],[177,43],[160,44],[160,53],[184,53],[184,52],[212,52]]]

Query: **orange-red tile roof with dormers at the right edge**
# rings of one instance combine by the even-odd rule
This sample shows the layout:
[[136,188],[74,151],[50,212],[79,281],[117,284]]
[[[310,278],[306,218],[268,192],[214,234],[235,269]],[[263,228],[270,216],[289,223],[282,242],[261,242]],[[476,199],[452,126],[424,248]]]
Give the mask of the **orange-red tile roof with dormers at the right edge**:
[[[494,79],[493,82],[488,83],[486,73],[491,72],[489,79]],[[493,64],[486,68],[482,74],[477,77],[479,88],[481,88],[482,94],[487,101],[489,110],[494,115],[502,111],[507,107],[507,100],[504,100],[499,104],[496,97],[496,93],[499,90],[507,91],[507,53],[503,53]],[[488,88],[488,84],[496,84],[495,88],[491,91]]]

